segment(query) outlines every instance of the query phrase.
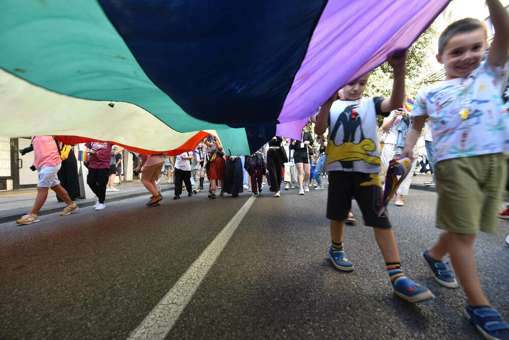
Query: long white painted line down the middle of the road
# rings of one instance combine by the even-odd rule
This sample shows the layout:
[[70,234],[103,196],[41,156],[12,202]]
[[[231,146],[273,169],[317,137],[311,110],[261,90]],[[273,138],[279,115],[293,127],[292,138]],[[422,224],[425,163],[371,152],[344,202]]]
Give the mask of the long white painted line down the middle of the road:
[[164,339],[177,322],[180,314],[200,286],[224,246],[228,243],[240,222],[251,208],[256,196],[251,196],[232,217],[223,230],[202,252],[199,258],[180,277],[161,301],[151,310],[141,324],[131,332],[128,339]]

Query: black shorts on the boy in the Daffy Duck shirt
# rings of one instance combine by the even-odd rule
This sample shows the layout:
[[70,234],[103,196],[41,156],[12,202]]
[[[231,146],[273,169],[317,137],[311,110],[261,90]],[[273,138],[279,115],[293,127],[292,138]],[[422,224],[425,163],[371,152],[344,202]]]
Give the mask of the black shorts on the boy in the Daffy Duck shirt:
[[329,172],[327,218],[344,220],[352,208],[352,196],[360,207],[364,224],[375,228],[391,228],[387,212],[378,217],[382,204],[382,183],[379,174],[348,171]]

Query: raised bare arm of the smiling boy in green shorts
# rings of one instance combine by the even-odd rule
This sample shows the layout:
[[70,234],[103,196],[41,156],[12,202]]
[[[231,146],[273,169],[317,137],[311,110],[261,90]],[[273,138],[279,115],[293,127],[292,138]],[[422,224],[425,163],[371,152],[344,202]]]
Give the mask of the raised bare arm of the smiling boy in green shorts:
[[507,62],[509,49],[509,13],[499,0],[487,0],[490,20],[495,28],[495,35],[488,53],[488,63],[492,68],[503,67]]

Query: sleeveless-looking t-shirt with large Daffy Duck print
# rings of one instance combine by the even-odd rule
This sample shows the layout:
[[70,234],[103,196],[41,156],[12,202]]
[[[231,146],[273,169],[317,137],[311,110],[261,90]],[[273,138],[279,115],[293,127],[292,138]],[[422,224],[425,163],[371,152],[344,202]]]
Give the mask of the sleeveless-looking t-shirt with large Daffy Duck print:
[[326,171],[355,171],[378,174],[380,143],[377,115],[382,112],[384,98],[373,97],[359,100],[336,100],[329,111],[329,142],[325,149]]

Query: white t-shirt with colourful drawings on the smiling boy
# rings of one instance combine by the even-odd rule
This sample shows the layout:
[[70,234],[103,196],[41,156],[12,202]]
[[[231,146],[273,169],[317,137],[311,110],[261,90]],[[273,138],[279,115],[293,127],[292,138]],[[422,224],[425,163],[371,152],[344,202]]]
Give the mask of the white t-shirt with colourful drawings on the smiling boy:
[[[419,92],[412,116],[430,118],[437,163],[509,150],[509,112],[499,92],[503,74],[482,62],[466,78],[444,80]],[[461,117],[463,109],[468,116]]]

